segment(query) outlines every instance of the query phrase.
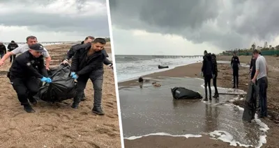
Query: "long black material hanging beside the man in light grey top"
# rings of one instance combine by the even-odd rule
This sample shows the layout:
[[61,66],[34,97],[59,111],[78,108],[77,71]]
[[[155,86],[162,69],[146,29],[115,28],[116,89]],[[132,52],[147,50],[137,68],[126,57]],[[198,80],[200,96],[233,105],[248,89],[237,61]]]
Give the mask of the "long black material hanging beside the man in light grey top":
[[246,101],[244,105],[244,111],[242,120],[251,122],[253,117],[255,117],[255,113],[257,110],[257,94],[259,90],[257,88],[257,85],[250,82],[248,92],[246,95]]

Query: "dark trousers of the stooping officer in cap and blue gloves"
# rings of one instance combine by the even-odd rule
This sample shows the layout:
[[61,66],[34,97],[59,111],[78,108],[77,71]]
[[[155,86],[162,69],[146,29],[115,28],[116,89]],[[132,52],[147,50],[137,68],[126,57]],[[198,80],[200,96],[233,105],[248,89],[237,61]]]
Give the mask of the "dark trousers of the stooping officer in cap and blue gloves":
[[13,89],[17,92],[17,98],[21,105],[28,105],[29,101],[33,101],[33,96],[39,91],[40,81],[35,77],[30,78],[15,78],[10,77],[10,83],[13,85]]

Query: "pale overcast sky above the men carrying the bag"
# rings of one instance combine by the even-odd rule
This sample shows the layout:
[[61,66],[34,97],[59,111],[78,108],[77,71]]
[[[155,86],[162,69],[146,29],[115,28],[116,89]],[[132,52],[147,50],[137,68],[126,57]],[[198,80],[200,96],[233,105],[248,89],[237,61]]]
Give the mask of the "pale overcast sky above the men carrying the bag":
[[0,42],[109,37],[105,0],[0,0]]

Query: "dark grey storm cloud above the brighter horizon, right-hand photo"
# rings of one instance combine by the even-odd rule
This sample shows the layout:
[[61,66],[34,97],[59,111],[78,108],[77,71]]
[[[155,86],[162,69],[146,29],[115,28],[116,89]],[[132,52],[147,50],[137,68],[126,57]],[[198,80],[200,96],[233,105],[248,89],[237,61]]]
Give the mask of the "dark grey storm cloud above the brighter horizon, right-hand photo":
[[248,47],[253,38],[271,41],[279,34],[279,1],[270,0],[114,0],[112,24],[175,34],[222,49]]

